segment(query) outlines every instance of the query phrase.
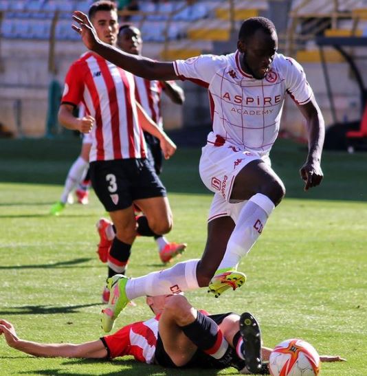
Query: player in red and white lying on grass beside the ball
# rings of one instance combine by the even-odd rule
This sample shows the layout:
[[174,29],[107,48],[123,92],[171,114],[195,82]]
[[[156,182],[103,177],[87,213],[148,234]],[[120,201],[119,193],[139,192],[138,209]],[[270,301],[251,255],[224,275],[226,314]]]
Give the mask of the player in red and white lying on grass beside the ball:
[[[113,335],[82,344],[41,344],[22,340],[14,326],[0,320],[0,334],[13,349],[40,357],[111,359],[133,355],[135,360],[165,367],[226,368],[267,374],[271,349],[261,349],[260,328],[250,313],[207,316],[182,295],[148,296],[155,317],[126,325]],[[261,351],[262,350],[262,351]],[[261,354],[260,354],[261,353]],[[344,360],[323,355],[322,362]]]

